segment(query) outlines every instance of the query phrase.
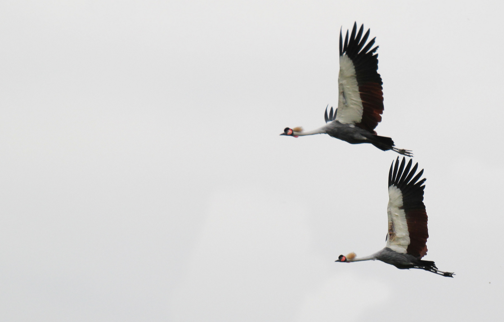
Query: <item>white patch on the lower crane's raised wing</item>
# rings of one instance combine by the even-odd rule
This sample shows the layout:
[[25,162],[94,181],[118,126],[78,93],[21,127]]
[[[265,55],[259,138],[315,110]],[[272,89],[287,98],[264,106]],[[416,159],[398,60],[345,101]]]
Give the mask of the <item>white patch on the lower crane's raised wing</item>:
[[408,223],[403,206],[403,194],[396,186],[389,187],[389,205],[387,214],[389,215],[389,235],[387,237],[387,247],[401,254],[406,254],[410,244]]

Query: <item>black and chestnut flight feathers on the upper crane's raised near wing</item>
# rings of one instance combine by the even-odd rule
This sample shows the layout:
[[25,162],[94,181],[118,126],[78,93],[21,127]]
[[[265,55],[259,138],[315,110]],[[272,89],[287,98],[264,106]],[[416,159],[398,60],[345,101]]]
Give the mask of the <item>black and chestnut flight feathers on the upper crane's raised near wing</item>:
[[[374,44],[373,38],[367,45],[364,44],[369,37],[370,30],[362,37],[364,25],[360,26],[357,32],[357,23],[353,25],[350,38],[348,30],[343,42],[343,35],[340,30],[340,56],[346,54],[352,60],[355,68],[357,84],[359,86],[360,99],[362,101],[362,119],[355,125],[376,134],[374,128],[382,121],[383,106],[383,82],[378,70],[378,54],[374,54],[378,49]],[[361,39],[362,37],[362,39]]]

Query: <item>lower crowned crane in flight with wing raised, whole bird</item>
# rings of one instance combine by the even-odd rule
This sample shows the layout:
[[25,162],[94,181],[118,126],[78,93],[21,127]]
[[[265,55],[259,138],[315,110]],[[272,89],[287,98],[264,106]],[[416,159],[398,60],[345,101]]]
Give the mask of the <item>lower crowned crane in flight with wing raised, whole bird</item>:
[[455,275],[439,271],[434,262],[421,260],[427,254],[425,244],[429,237],[427,213],[423,204],[425,178],[418,181],[423,174],[423,169],[415,176],[418,163],[411,169],[411,162],[410,159],[405,168],[406,159],[403,157],[401,166],[398,167],[398,157],[395,166],[394,162],[390,166],[389,205],[387,207],[389,232],[385,239],[387,241],[385,248],[365,257],[357,257],[355,253],[347,256],[340,255],[336,262],[379,260],[399,269],[419,268],[447,277]]

